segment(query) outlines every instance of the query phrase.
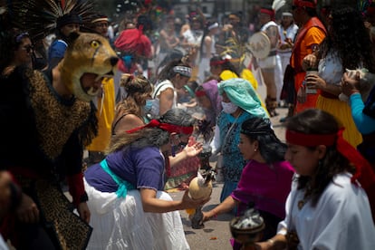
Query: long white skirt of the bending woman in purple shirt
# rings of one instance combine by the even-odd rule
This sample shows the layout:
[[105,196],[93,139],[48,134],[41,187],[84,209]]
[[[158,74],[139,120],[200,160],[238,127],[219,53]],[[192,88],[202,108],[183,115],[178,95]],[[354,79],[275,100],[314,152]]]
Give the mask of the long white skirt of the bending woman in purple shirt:
[[[143,212],[139,190],[127,197],[96,190],[84,180],[89,196],[92,235],[87,249],[190,249],[178,211]],[[157,197],[172,198],[162,191]]]

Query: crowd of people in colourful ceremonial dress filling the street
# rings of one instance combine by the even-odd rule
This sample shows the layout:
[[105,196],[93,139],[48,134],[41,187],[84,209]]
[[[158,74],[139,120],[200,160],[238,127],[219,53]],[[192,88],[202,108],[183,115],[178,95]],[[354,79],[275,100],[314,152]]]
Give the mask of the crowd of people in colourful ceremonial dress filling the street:
[[[137,14],[113,32],[91,1],[45,4],[50,15],[13,2],[1,14],[0,249],[189,249],[178,210],[203,206],[203,223],[250,204],[264,235],[234,249],[375,249],[373,5],[261,6],[270,49],[258,58],[241,12],[221,22],[197,8],[178,27],[165,14],[157,28]],[[286,141],[271,121],[281,106]],[[188,194],[207,168],[223,178],[211,209]]]

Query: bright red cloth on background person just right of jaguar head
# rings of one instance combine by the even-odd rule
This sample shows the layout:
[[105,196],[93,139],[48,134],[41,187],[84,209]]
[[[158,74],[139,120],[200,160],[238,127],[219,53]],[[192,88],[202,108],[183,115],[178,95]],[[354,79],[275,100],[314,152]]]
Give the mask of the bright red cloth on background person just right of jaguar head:
[[124,53],[134,53],[137,56],[151,57],[151,41],[139,29],[128,29],[120,33],[114,42],[118,50]]

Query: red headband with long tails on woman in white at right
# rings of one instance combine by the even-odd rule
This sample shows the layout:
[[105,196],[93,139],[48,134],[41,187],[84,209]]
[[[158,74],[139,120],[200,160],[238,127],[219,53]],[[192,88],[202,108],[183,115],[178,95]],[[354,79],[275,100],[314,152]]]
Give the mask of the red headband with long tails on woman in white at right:
[[364,159],[361,154],[354,149],[348,141],[343,139],[342,132],[344,128],[337,131],[336,134],[303,134],[300,132],[286,130],[285,139],[288,143],[304,147],[313,147],[319,145],[332,146],[336,142],[336,149],[343,157],[349,159],[354,164],[356,172],[351,177],[351,182],[358,179],[361,186],[366,189],[375,182],[375,174],[370,163]]

